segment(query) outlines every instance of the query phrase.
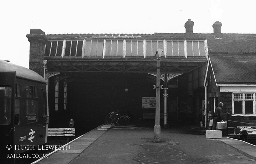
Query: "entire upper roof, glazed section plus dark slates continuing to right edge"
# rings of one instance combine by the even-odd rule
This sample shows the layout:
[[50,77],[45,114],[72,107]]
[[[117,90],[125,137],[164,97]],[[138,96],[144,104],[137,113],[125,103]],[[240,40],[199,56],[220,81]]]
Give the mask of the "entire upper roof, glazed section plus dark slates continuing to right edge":
[[[207,53],[255,53],[255,34],[48,34],[45,56],[203,56]],[[105,42],[104,42],[105,41]],[[144,42],[143,42],[144,41]],[[138,52],[137,52],[138,51]]]

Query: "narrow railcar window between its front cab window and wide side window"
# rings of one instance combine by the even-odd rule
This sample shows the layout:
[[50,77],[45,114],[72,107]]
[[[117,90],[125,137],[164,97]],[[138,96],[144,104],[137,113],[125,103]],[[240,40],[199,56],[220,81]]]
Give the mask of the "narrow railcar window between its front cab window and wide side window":
[[20,84],[16,84],[15,100],[14,100],[14,125],[18,125],[20,123],[20,105],[21,105]]

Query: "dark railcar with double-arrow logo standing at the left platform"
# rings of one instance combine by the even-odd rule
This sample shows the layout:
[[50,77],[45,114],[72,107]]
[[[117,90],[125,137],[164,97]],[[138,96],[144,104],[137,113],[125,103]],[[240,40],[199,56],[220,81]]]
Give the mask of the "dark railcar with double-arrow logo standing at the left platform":
[[19,154],[46,143],[47,130],[44,78],[0,60],[0,163],[14,163]]

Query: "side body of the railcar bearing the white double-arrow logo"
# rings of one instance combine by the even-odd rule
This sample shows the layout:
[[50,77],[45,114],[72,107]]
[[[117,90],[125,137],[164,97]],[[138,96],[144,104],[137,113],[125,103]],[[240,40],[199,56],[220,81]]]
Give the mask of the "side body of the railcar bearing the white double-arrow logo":
[[[21,94],[22,98],[21,101],[23,102],[21,104],[21,111],[20,116],[23,116],[22,118],[19,118],[19,121],[17,122],[17,125],[15,125],[15,131],[14,131],[14,145],[19,146],[34,146],[36,147],[38,145],[42,145],[45,143],[46,138],[46,119],[47,119],[47,111],[46,111],[46,90],[44,84],[38,84],[36,82],[31,82],[28,80],[23,80],[17,78],[16,85],[20,84]],[[23,98],[27,97],[26,89],[27,87],[30,87],[32,89],[37,88],[37,97],[36,99],[30,99],[28,100],[22,100]],[[45,95],[45,96],[44,96]],[[33,97],[33,96],[32,96]],[[37,115],[32,115],[27,113],[27,105],[31,105],[32,103],[37,104]],[[30,111],[33,112],[33,111]],[[15,121],[14,121],[15,122]],[[33,148],[33,147],[32,147]],[[16,153],[22,153],[24,150],[16,150]]]

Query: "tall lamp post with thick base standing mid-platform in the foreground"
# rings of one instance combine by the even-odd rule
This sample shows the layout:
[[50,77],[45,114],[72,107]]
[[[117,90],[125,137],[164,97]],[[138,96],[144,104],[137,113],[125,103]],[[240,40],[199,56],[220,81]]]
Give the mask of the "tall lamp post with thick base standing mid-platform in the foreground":
[[160,57],[163,49],[156,50],[156,122],[154,126],[154,142],[160,142]]

